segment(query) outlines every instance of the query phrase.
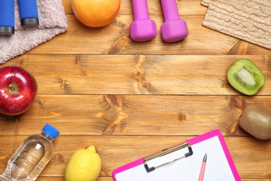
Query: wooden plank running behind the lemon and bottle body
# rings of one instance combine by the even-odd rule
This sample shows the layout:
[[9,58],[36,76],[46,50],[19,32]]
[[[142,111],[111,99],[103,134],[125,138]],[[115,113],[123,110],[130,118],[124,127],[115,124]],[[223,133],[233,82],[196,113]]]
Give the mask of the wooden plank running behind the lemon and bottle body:
[[[54,141],[54,157],[42,171],[42,176],[63,176],[69,157],[75,150],[95,145],[101,156],[100,176],[111,176],[114,168],[140,159],[153,152],[162,150],[190,139],[192,136],[64,136]],[[24,136],[0,136],[5,145],[0,150],[0,172],[6,168],[9,157],[13,154]],[[271,140],[259,141],[250,137],[224,137],[233,162],[241,178],[270,179]]]

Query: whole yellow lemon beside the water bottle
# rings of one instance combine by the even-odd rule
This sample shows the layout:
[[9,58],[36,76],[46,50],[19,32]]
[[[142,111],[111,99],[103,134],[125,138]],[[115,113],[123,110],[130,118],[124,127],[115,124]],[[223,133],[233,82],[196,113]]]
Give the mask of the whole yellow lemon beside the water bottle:
[[101,157],[95,146],[77,150],[69,158],[65,169],[65,181],[95,181],[101,171]]

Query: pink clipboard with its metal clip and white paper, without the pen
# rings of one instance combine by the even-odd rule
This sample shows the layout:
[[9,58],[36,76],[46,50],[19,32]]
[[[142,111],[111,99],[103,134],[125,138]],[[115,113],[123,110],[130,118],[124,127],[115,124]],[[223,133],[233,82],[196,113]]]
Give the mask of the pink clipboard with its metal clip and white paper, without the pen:
[[113,170],[115,181],[198,180],[207,153],[204,181],[239,181],[240,176],[220,130],[166,148]]

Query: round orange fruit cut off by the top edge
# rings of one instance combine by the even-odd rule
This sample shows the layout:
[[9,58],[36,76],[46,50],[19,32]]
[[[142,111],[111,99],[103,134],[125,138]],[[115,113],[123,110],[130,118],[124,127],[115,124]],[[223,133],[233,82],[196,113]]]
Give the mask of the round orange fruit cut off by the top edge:
[[71,0],[74,15],[90,27],[110,24],[120,10],[120,0]]

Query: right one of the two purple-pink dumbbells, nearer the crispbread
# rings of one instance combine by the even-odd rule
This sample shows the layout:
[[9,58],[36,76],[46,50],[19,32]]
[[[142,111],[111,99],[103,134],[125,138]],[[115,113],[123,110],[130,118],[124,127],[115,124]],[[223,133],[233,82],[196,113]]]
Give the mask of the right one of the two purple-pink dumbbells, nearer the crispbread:
[[176,0],[161,0],[165,22],[161,26],[162,38],[165,42],[176,42],[188,36],[186,22],[179,17]]

